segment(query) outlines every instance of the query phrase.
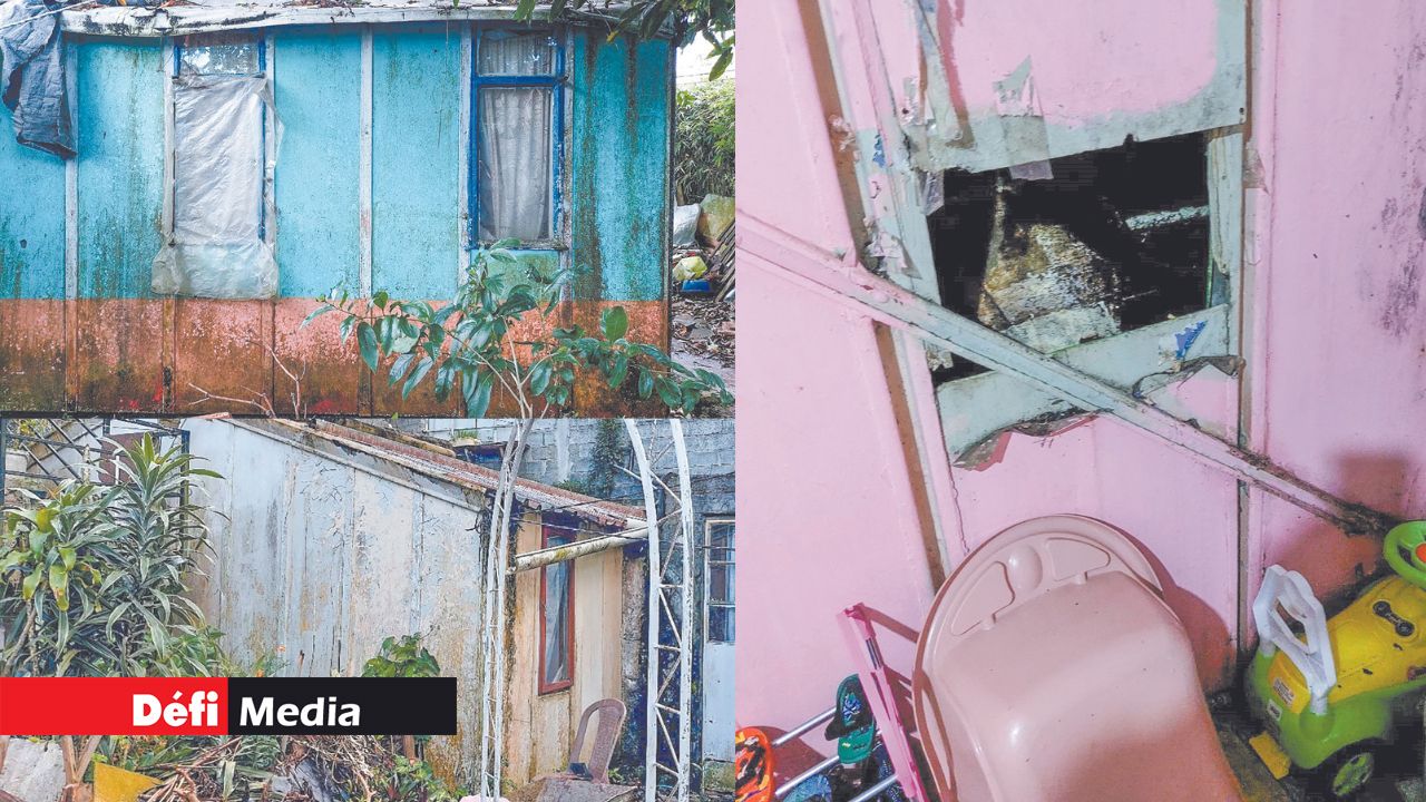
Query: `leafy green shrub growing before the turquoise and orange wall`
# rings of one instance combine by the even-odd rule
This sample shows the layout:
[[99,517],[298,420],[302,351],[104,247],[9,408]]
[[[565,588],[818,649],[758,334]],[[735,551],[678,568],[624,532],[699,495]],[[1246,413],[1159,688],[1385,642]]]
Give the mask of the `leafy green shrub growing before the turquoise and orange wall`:
[[388,382],[401,385],[402,397],[431,381],[438,400],[459,391],[472,418],[489,410],[496,390],[519,404],[522,418],[540,417],[569,404],[578,372],[599,375],[615,391],[659,398],[672,411],[732,402],[717,374],[630,341],[623,307],[605,310],[599,331],[552,327],[546,340],[518,341],[513,331],[526,315],[549,320],[569,280],[565,270],[546,274],[520,261],[511,253],[518,244],[502,240],[476,251],[455,300],[441,308],[386,293],[368,300],[334,291],[304,325],[324,314],[341,315],[342,342],[355,337],[372,372],[392,358]]

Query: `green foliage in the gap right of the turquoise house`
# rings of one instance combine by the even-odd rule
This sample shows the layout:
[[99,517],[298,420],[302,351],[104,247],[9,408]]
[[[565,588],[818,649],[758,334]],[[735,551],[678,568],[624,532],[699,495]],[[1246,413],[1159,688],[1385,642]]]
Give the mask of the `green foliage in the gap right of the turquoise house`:
[[734,106],[732,78],[679,90],[673,184],[684,203],[697,203],[707,194],[733,194]]

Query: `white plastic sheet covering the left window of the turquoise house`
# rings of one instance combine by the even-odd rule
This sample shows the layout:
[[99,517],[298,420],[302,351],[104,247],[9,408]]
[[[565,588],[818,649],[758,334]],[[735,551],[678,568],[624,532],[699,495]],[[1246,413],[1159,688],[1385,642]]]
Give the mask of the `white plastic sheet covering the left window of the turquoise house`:
[[277,261],[262,240],[267,78],[181,76],[173,91],[174,223],[154,258],[154,293],[271,298]]

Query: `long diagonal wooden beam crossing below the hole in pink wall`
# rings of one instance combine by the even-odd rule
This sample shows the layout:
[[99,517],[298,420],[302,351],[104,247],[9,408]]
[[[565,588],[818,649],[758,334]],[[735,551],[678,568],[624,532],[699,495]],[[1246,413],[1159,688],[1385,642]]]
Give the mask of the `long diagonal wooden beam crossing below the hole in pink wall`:
[[739,218],[739,248],[803,285],[856,304],[873,320],[906,330],[987,368],[1015,375],[1087,412],[1112,415],[1205,465],[1235,474],[1283,501],[1333,521],[1348,534],[1383,532],[1390,525],[1386,515],[1343,501],[1261,454],[1219,440],[998,331],[901,290],[863,268],[854,255],[838,257],[747,214]]

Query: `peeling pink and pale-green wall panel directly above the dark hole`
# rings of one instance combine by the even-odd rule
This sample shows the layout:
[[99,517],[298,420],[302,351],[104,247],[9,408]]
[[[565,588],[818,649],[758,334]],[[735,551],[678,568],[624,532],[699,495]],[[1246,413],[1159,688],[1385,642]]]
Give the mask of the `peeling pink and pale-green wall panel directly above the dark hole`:
[[[1243,0],[941,0],[935,9],[928,29],[938,50],[925,57],[947,64],[950,97],[924,96],[914,73],[888,74],[923,170],[978,173],[1243,120]],[[927,41],[904,27],[881,29],[884,50]],[[955,118],[927,130],[923,116],[935,108]]]

